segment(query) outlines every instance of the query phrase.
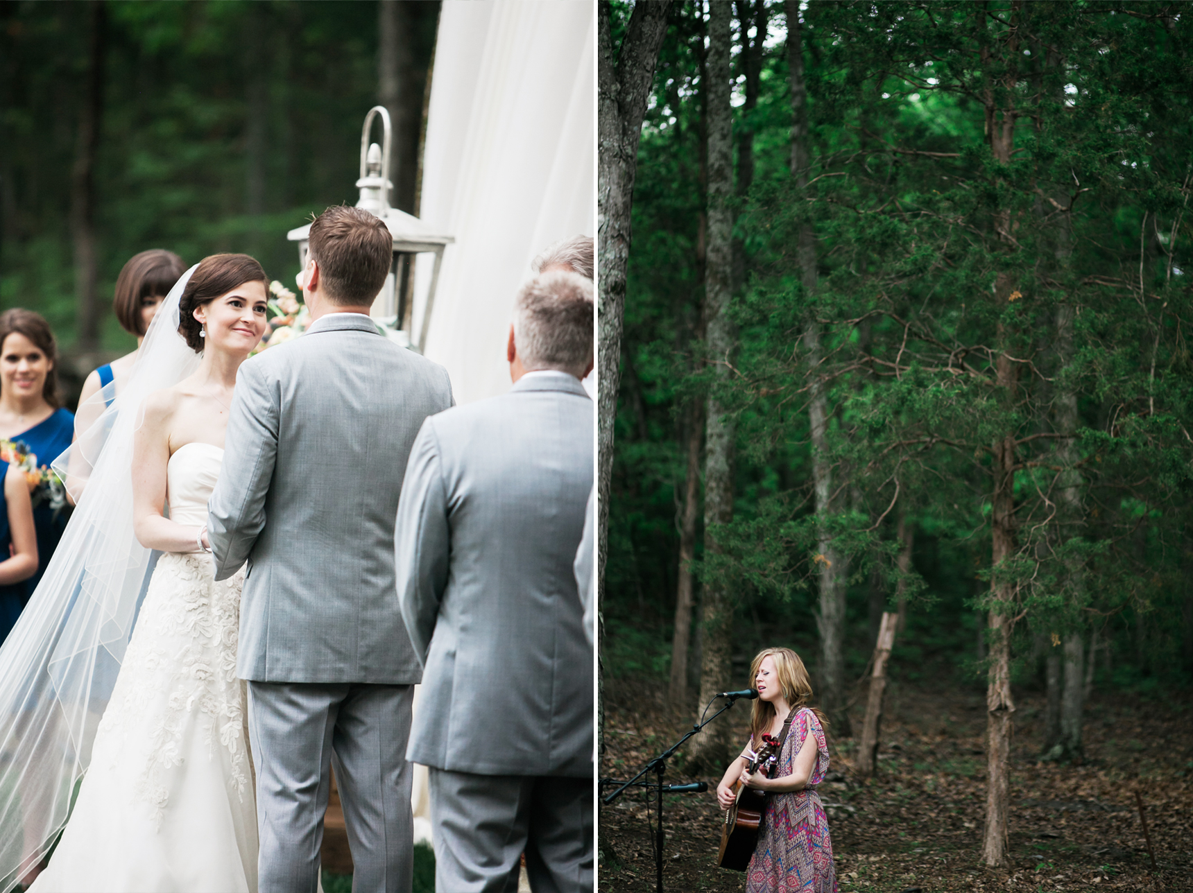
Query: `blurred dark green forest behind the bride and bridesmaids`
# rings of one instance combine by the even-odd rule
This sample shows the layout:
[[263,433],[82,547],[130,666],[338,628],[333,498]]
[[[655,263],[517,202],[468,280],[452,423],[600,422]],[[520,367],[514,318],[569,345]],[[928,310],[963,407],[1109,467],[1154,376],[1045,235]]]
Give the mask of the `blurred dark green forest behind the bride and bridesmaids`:
[[135,346],[111,297],[137,252],[245,252],[292,283],[285,234],[354,203],[377,104],[395,129],[391,201],[416,213],[438,14],[437,0],[0,0],[0,309],[49,318],[69,379]]

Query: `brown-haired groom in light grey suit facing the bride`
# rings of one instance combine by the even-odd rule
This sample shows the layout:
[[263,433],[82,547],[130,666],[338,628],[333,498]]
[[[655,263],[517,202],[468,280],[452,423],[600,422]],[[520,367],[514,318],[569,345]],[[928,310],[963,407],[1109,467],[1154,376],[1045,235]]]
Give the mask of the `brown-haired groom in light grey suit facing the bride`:
[[440,366],[381,335],[385,224],[329,207],[310,227],[314,322],[240,367],[209,503],[216,579],[248,562],[236,669],[248,680],[261,893],[315,893],[328,764],[353,889],[413,883],[406,762],[419,656],[394,600],[394,516]]

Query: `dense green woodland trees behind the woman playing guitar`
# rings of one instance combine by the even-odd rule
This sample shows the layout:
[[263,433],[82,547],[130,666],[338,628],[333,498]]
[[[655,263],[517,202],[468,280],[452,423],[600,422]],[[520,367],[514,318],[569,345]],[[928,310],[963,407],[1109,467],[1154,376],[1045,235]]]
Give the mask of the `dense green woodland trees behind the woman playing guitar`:
[[[710,351],[709,15],[672,4],[637,156],[606,675],[665,681],[691,619],[691,708],[792,644],[847,734],[847,683],[898,610],[892,675],[985,684],[994,725],[1046,688],[1062,759],[1092,688],[1187,689],[1187,13],[735,2],[734,337]],[[712,408],[733,502],[707,548]],[[710,591],[733,614],[711,681]]]

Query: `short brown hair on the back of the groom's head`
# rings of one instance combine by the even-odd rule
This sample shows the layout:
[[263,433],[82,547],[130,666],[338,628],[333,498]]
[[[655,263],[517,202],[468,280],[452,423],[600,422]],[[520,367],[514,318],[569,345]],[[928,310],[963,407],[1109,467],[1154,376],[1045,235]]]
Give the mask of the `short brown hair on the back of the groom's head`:
[[394,237],[379,217],[359,207],[328,207],[310,224],[307,240],[328,300],[372,304],[394,256]]

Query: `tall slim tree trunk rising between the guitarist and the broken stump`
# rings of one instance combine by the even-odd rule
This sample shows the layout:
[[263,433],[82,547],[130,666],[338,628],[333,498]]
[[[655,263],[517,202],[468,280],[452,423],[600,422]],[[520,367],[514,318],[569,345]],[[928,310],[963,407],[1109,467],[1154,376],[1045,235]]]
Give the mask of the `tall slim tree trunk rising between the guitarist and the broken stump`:
[[[787,69],[791,77],[791,175],[797,186],[808,185],[811,166],[811,147],[808,135],[808,88],[804,81],[803,36],[799,25],[798,0],[785,0],[787,15]],[[801,283],[805,300],[816,293],[816,235],[810,223],[799,228],[796,246]],[[823,686],[821,703],[841,737],[848,737],[849,714],[845,697],[845,600],[848,568],[845,556],[837,554],[833,544],[828,517],[834,507],[829,504],[833,490],[833,470],[828,455],[828,397],[821,370],[820,325],[815,314],[809,312],[804,333],[804,352],[808,355],[809,401],[808,416],[811,423],[812,482],[816,490],[816,514],[821,517],[818,552],[816,563],[820,571],[820,609],[816,626],[821,637],[820,678]]]

